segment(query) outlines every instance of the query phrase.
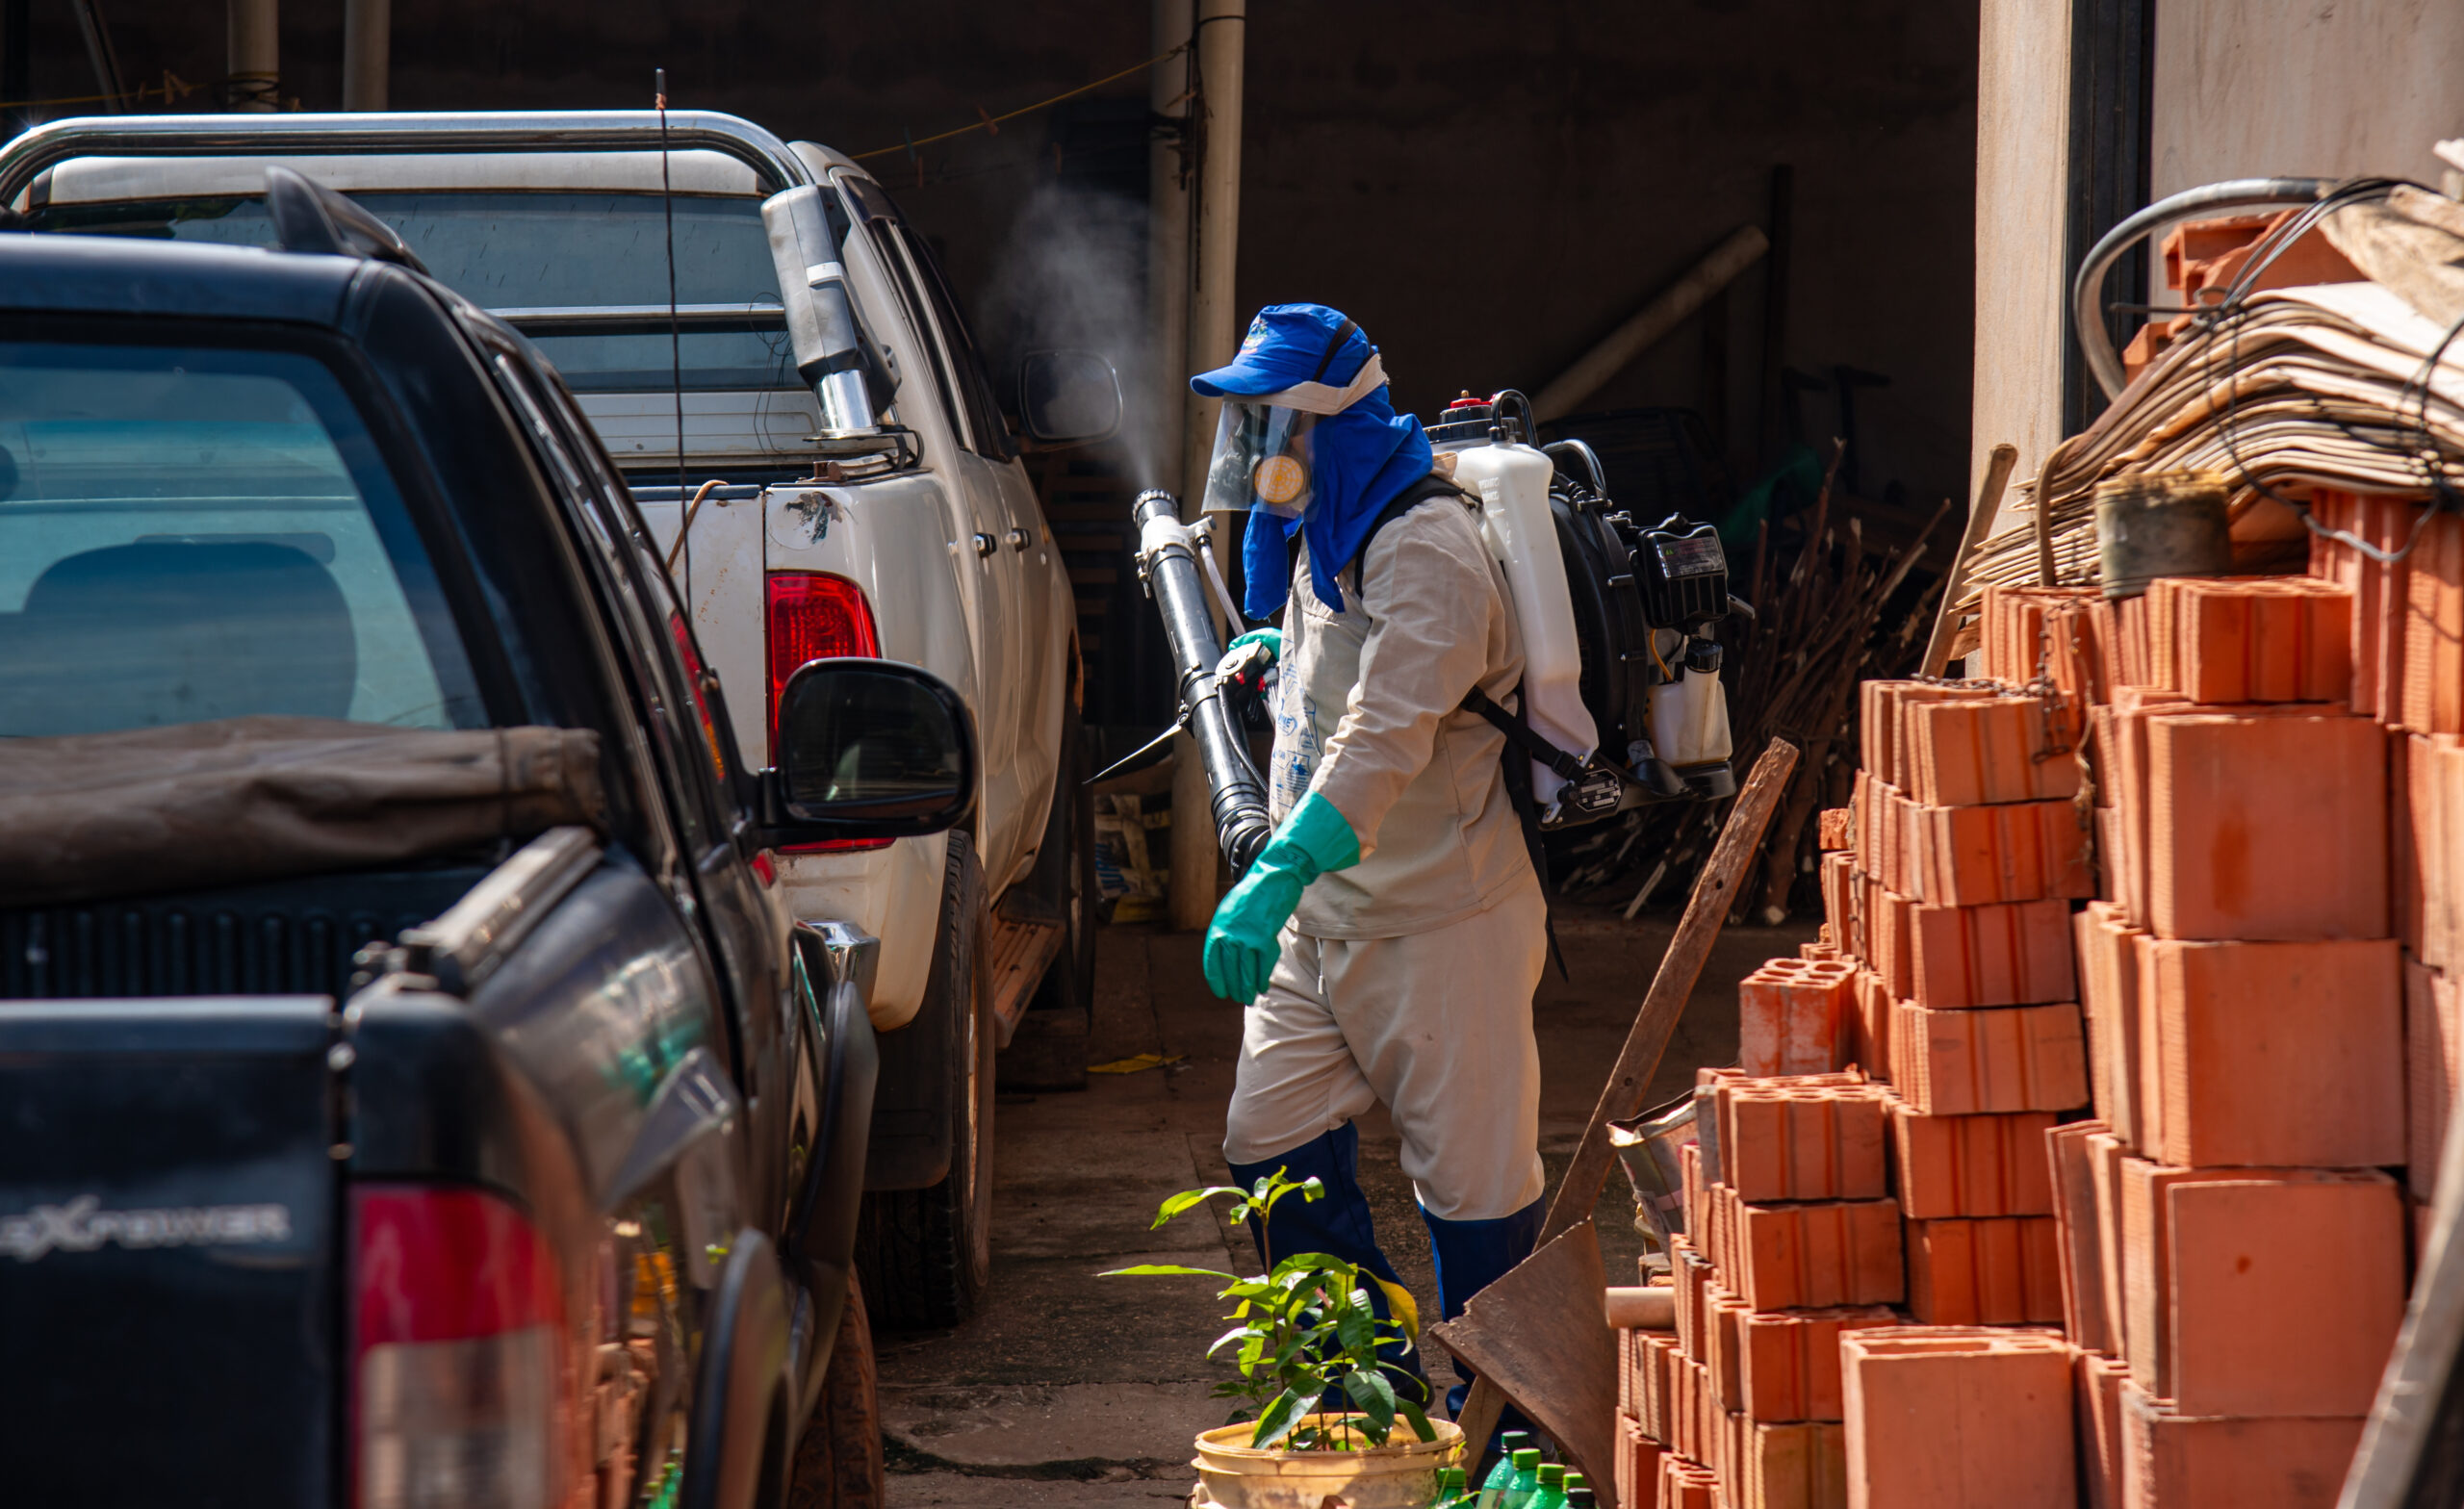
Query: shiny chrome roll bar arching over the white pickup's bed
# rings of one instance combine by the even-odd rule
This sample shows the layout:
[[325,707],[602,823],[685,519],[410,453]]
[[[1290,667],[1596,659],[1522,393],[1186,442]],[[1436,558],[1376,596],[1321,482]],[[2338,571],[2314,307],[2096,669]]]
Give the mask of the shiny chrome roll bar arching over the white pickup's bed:
[[[724,153],[774,195],[813,173],[784,141],[717,111],[668,111],[668,145]],[[79,116],[0,148],[0,205],[74,158],[246,158],[333,153],[643,153],[658,150],[658,111],[458,111],[281,116]]]

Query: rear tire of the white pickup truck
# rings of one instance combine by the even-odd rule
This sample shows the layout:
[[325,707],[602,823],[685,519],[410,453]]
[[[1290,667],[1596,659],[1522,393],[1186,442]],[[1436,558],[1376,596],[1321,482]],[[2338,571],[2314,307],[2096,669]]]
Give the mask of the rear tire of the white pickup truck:
[[983,870],[966,833],[949,836],[941,920],[924,1013],[949,1006],[949,1174],[926,1188],[875,1188],[855,1228],[865,1304],[892,1331],[956,1327],[993,1277],[993,1004]]

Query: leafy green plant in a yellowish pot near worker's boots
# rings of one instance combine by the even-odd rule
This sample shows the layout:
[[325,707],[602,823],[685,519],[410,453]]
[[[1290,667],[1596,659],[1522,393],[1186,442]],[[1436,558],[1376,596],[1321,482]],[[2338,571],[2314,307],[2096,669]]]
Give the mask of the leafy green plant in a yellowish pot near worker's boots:
[[[1215,1196],[1232,1196],[1232,1221],[1264,1230],[1276,1201],[1326,1198],[1316,1179],[1296,1184],[1281,1169],[1252,1188],[1185,1188],[1163,1201],[1156,1225]],[[1215,1388],[1247,1401],[1230,1425],[1198,1435],[1198,1474],[1215,1509],[1318,1509],[1331,1497],[1350,1509],[1422,1509],[1437,1499],[1437,1474],[1454,1465],[1464,1433],[1429,1420],[1409,1391],[1397,1393],[1382,1349],[1414,1346],[1419,1309],[1409,1290],[1326,1253],[1266,1250],[1266,1272],[1239,1277],[1212,1267],[1143,1262],[1104,1277],[1215,1277],[1232,1302],[1232,1329],[1207,1346],[1230,1349],[1239,1368]],[[1375,1292],[1387,1312],[1377,1314]],[[1350,1408],[1326,1408],[1328,1401]]]

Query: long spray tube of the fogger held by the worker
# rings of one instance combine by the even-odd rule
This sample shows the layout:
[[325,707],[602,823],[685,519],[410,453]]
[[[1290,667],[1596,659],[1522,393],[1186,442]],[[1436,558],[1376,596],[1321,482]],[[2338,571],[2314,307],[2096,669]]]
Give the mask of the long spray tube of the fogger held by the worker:
[[[1215,819],[1210,836],[1232,863],[1232,873],[1239,875],[1274,838],[1274,819],[1266,814],[1266,779],[1249,762],[1232,710],[1225,708],[1222,690],[1215,685],[1222,641],[1215,636],[1207,587],[1198,575],[1198,545],[1190,542],[1190,528],[1180,523],[1180,505],[1161,488],[1138,493],[1129,513],[1138,525],[1138,575],[1146,577],[1146,589],[1163,614],[1163,639],[1173,646],[1173,683],[1198,750],[1193,764],[1205,772],[1207,811]],[[1205,828],[1188,821],[1198,814],[1198,804],[1180,806],[1178,779],[1173,811],[1185,814],[1183,821],[1173,824],[1173,853],[1180,853],[1183,843]],[[1215,910],[1212,853],[1210,848],[1207,915]],[[1175,883],[1178,870],[1175,863]]]

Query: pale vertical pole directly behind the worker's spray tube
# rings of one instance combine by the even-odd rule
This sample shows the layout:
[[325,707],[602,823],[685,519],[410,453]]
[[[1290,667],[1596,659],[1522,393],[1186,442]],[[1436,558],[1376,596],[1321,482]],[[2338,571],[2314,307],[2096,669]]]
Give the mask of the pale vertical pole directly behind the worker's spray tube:
[[[1198,160],[1198,222],[1190,276],[1188,372],[1232,360],[1239,348],[1239,308],[1232,271],[1239,252],[1239,96],[1242,49],[1249,30],[1247,0],[1198,0],[1198,99],[1202,153]],[[1195,518],[1207,493],[1207,454],[1215,449],[1220,404],[1183,390],[1180,510]],[[1227,520],[1237,525],[1239,520]],[[1232,530],[1215,538],[1215,557],[1230,552]],[[1205,767],[1183,737],[1173,757],[1173,927],[1205,927],[1215,915],[1215,826]]]

